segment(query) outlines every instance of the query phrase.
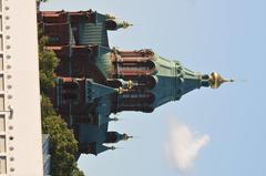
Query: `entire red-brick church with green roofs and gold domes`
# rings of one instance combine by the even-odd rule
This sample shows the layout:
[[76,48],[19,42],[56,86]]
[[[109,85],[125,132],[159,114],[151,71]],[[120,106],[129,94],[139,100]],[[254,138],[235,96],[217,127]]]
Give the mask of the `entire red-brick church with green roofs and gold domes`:
[[[39,28],[49,37],[47,49],[60,60],[51,101],[73,128],[79,155],[98,155],[105,144],[132,136],[109,132],[111,114],[123,111],[152,113],[170,101],[204,87],[217,89],[224,80],[216,72],[201,74],[152,50],[122,51],[109,45],[108,31],[129,28],[96,11],[41,11]],[[78,156],[79,156],[78,155]]]

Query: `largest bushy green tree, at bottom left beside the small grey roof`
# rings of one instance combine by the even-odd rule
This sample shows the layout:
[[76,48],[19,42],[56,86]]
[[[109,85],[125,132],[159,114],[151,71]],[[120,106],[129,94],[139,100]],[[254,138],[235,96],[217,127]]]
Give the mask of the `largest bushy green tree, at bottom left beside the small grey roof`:
[[42,123],[43,133],[50,134],[53,176],[82,176],[76,167],[74,155],[78,142],[66,123],[59,116],[48,116]]

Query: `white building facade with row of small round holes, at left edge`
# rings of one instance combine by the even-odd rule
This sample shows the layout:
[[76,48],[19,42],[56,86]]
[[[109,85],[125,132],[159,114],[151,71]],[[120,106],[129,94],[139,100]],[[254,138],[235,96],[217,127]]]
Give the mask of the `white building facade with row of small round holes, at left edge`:
[[35,13],[35,0],[0,0],[1,176],[43,175]]

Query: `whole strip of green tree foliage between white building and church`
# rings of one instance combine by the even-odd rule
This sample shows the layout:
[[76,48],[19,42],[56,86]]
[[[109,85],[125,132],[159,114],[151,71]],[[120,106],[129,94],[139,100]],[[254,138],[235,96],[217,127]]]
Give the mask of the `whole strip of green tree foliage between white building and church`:
[[52,176],[84,176],[75,162],[78,142],[68,124],[59,116],[49,99],[54,87],[54,70],[59,60],[51,50],[45,49],[48,38],[39,32],[39,71],[41,85],[42,131],[50,135],[51,175]]

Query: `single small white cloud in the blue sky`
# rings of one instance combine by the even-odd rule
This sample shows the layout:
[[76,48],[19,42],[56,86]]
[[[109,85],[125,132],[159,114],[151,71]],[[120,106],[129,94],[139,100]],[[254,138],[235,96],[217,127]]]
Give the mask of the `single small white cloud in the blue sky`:
[[166,143],[167,156],[181,172],[190,173],[200,151],[208,142],[208,135],[198,135],[187,125],[173,121]]

